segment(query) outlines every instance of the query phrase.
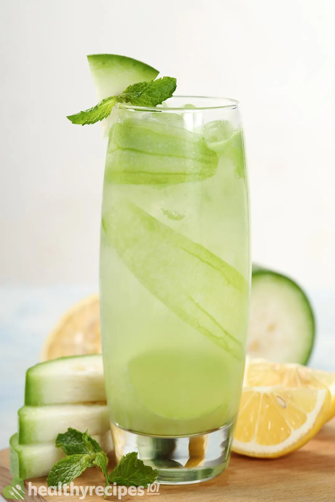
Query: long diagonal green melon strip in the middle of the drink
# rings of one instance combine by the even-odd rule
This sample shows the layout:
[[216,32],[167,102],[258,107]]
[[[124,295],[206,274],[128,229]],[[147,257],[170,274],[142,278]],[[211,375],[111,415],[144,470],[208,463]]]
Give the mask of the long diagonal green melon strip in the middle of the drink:
[[126,199],[103,215],[102,232],[150,293],[235,359],[243,359],[241,317],[249,288],[236,269]]

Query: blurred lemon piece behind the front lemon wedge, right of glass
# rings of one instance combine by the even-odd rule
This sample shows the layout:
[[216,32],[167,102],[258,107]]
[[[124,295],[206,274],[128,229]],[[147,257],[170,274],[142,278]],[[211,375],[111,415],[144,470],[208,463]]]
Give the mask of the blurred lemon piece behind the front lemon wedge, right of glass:
[[328,389],[331,394],[331,408],[327,420],[335,415],[335,373],[333,372],[312,369],[301,364],[277,363],[248,357],[243,385]]

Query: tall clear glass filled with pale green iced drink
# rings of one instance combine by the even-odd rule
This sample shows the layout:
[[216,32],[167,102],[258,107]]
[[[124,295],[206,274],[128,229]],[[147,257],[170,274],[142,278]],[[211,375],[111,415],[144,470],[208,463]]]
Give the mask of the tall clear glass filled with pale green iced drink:
[[249,195],[239,107],[180,96],[114,113],[100,312],[116,456],[137,451],[161,482],[198,482],[228,464],[245,364]]

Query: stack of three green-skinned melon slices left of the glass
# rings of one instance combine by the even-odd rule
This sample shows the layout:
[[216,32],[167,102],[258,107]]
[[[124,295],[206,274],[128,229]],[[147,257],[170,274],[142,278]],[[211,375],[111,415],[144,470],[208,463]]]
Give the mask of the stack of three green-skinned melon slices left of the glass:
[[100,354],[63,357],[36,364],[26,374],[19,431],[10,440],[10,469],[23,479],[46,476],[64,456],[59,433],[72,427],[108,453],[112,448]]

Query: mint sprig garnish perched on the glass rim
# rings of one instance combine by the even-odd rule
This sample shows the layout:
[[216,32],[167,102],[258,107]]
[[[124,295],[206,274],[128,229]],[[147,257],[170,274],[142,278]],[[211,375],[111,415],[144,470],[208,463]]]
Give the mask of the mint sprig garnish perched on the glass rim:
[[137,82],[129,85],[119,96],[110,96],[102,99],[98,104],[87,110],[80,111],[67,118],[73,124],[94,124],[108,117],[113,106],[119,103],[130,103],[134,106],[157,106],[172,97],[177,87],[177,80],[173,77],[163,77],[149,82]]

